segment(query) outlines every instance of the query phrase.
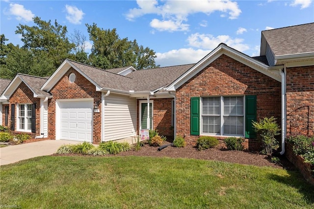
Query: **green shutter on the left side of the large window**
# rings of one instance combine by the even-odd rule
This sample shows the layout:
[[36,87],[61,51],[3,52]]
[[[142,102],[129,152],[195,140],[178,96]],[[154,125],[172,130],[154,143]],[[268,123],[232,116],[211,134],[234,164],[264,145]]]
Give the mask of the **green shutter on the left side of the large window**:
[[200,98],[191,98],[191,135],[200,135]]

